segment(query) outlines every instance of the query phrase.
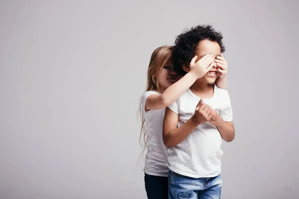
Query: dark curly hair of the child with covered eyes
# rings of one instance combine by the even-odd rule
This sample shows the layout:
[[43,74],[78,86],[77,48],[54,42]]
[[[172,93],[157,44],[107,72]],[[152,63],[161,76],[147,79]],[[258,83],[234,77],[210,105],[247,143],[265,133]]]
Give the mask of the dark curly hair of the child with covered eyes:
[[215,31],[211,25],[192,27],[176,37],[175,46],[172,48],[172,64],[177,73],[186,74],[182,69],[183,64],[189,65],[191,59],[195,56],[198,42],[204,39],[216,41],[220,46],[221,53],[225,51],[221,32]]

